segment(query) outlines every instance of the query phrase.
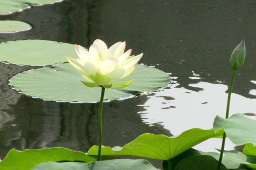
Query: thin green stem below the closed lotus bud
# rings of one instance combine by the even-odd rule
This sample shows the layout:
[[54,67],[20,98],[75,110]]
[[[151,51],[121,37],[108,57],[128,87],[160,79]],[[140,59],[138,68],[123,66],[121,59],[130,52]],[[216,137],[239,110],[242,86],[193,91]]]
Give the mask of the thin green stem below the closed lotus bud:
[[[228,90],[228,96],[227,96],[227,104],[226,104],[226,119],[228,118],[228,113],[229,113],[229,106],[230,106],[230,98],[231,98],[231,93],[233,89],[233,84],[234,84],[234,75],[235,75],[236,68],[233,67],[232,71],[232,77],[229,85],[229,90]],[[222,138],[222,145],[221,145],[221,150],[220,150],[220,155],[219,155],[219,160],[218,160],[218,170],[220,169],[222,157],[223,157],[223,151],[224,151],[224,146],[225,146],[225,139],[226,139],[226,134],[223,133],[223,138]]]

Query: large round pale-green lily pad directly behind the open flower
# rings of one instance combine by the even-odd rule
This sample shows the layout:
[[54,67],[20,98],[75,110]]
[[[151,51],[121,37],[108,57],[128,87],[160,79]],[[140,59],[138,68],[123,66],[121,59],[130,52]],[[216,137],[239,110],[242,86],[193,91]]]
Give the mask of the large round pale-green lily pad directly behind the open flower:
[[[105,99],[115,100],[135,95],[136,91],[152,92],[159,87],[165,88],[169,83],[169,76],[161,70],[146,65],[135,65],[131,75],[122,81],[134,81],[121,89],[106,89]],[[100,98],[100,87],[89,88],[80,80],[85,80],[69,63],[59,64],[53,68],[39,68],[24,71],[10,79],[10,84],[24,94],[42,99],[65,102],[95,102]],[[86,81],[86,80],[85,80]]]

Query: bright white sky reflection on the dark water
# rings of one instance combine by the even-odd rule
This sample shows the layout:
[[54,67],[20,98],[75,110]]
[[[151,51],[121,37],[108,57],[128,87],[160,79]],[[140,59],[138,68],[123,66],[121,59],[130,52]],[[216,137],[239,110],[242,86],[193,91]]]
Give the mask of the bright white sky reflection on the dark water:
[[[170,89],[147,96],[143,111],[138,112],[148,125],[159,124],[172,135],[179,135],[191,128],[210,129],[216,115],[225,117],[227,86],[198,82],[189,84],[195,90],[188,90],[174,84]],[[254,115],[256,99],[249,99],[232,93],[229,116],[235,113]],[[256,120],[255,116],[247,116]],[[215,151],[220,148],[221,140],[212,139],[195,148],[202,151]],[[225,149],[232,150],[234,145],[227,141]]]

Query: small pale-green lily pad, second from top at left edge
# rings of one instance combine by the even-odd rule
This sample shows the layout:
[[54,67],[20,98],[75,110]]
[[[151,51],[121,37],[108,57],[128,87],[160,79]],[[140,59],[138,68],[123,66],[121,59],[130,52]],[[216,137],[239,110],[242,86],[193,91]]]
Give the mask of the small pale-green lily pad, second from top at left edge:
[[0,32],[18,32],[30,29],[31,26],[17,20],[0,20]]

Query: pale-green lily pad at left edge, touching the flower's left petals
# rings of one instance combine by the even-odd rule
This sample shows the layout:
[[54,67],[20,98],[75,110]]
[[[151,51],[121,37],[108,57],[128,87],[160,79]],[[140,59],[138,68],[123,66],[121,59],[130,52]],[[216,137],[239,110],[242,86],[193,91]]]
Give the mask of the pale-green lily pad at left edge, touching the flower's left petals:
[[47,40],[18,40],[0,44],[0,61],[23,65],[51,65],[77,57],[73,44]]

